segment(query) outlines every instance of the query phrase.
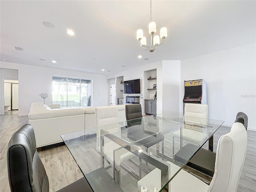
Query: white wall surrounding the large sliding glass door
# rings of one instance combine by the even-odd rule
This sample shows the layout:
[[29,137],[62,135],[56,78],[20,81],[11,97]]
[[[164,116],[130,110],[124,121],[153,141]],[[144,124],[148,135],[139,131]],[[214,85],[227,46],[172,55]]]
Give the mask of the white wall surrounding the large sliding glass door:
[[[45,99],[45,103],[52,103],[52,76],[92,79],[92,106],[108,105],[108,81],[104,75],[58,70],[9,62],[1,62],[1,72],[3,70],[2,68],[18,70],[19,116],[28,114],[32,102],[43,102],[43,99],[38,96],[40,93],[48,93],[48,98]],[[2,104],[3,99],[1,106]]]

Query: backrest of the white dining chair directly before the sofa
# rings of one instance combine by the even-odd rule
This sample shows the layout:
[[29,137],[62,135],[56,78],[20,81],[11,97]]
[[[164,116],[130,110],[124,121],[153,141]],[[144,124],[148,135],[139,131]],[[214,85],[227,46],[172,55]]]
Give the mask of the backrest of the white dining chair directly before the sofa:
[[[120,132],[117,124],[119,122],[118,106],[101,106],[95,108],[97,122],[97,144],[100,146],[100,130],[111,130],[112,132]],[[104,143],[110,142],[105,138]]]

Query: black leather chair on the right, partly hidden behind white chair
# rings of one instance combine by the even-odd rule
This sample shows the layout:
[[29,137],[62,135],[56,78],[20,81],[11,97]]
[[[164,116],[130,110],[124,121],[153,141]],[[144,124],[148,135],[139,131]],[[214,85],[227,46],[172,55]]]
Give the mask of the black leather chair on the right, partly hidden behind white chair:
[[[248,117],[246,114],[244,114],[243,112],[238,112],[235,122],[242,123],[247,130]],[[188,159],[186,158],[186,156],[191,156],[189,152],[194,151],[192,148],[197,149],[198,146],[194,146],[193,144],[187,144],[175,154],[174,159],[179,162],[185,163]],[[189,160],[186,166],[192,172],[196,172],[200,176],[211,180],[214,174],[215,159],[215,152],[200,148],[200,150],[198,150],[198,152]]]

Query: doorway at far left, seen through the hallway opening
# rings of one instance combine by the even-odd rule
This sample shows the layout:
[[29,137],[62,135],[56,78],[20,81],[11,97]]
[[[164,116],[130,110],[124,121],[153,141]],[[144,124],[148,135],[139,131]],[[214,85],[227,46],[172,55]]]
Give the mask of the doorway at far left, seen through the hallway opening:
[[18,110],[19,84],[17,80],[4,80],[4,111]]

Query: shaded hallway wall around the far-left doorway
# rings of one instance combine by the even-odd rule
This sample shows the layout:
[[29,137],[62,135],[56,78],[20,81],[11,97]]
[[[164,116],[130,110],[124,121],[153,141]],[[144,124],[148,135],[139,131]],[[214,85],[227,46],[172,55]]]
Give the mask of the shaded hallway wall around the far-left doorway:
[[4,114],[4,80],[18,80],[18,70],[0,68],[0,77],[0,114],[2,115]]

